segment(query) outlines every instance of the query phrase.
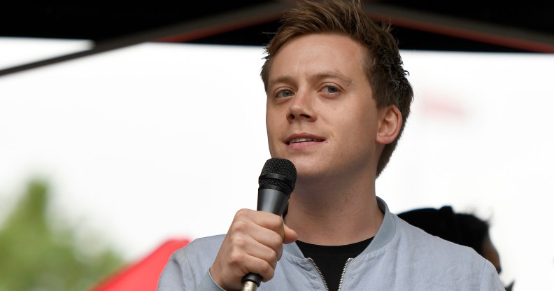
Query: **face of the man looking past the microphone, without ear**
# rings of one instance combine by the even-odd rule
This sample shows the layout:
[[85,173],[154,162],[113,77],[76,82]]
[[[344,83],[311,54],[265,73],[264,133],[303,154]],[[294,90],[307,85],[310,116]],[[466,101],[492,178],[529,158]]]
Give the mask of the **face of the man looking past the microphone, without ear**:
[[308,34],[283,45],[269,69],[271,157],[290,159],[299,178],[375,176],[380,115],[361,45],[337,34]]

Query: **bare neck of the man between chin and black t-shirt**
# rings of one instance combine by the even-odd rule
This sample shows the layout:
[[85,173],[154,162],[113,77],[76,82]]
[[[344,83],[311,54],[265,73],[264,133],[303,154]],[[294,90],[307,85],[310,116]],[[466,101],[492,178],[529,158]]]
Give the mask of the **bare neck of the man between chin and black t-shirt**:
[[341,246],[375,236],[383,213],[373,181],[350,187],[299,185],[290,197],[285,222],[299,234],[299,240],[322,246]]

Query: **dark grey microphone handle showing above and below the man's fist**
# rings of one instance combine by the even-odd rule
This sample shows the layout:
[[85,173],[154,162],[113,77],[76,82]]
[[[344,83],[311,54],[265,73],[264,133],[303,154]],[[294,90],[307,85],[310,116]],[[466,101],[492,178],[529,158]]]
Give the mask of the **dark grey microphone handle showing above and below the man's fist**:
[[[287,208],[288,197],[279,190],[264,187],[258,189],[257,210],[283,215]],[[242,291],[256,291],[262,283],[262,276],[254,273],[246,274],[242,279]]]

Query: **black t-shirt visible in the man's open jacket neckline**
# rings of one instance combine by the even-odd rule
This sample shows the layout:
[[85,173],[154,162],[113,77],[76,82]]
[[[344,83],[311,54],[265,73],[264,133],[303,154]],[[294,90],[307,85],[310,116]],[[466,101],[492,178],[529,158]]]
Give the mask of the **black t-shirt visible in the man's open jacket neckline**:
[[360,255],[373,237],[344,246],[319,246],[296,241],[304,257],[310,257],[318,266],[329,290],[339,290],[339,283],[346,260]]

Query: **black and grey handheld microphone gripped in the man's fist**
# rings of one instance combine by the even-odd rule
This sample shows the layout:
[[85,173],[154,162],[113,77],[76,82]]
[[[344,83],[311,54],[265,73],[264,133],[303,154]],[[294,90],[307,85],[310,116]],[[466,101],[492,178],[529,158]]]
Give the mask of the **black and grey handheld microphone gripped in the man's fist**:
[[[290,193],[296,183],[296,167],[288,159],[273,157],[264,164],[258,178],[257,211],[265,211],[283,215],[287,208]],[[242,283],[242,291],[255,291],[260,287],[262,276],[254,273],[246,274]]]

